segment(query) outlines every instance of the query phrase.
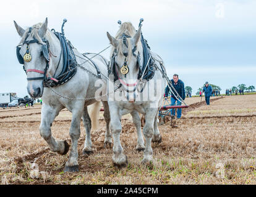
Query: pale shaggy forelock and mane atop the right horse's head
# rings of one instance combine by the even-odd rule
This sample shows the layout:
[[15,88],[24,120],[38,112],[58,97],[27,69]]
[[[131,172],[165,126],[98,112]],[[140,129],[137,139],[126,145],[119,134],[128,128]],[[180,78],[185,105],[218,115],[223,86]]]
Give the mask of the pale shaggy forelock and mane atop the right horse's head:
[[[131,36],[133,37],[136,33],[136,30],[134,28],[134,26],[132,25],[132,23],[130,22],[124,22],[120,25],[119,30],[116,33],[115,38],[118,40],[118,46],[117,46],[117,52],[119,53],[119,55],[122,55],[122,39],[119,39],[120,36],[122,36],[122,34],[125,33],[127,36]],[[130,43],[130,38],[127,38],[127,44],[128,44],[128,60],[130,60],[130,57],[132,56],[132,44]],[[138,43],[137,43],[137,50],[138,51],[142,51],[142,43],[139,39]],[[114,52],[114,47],[112,49],[111,54],[113,54]]]

